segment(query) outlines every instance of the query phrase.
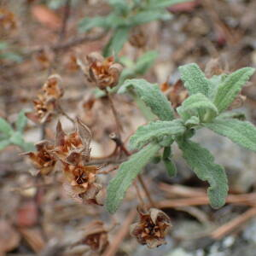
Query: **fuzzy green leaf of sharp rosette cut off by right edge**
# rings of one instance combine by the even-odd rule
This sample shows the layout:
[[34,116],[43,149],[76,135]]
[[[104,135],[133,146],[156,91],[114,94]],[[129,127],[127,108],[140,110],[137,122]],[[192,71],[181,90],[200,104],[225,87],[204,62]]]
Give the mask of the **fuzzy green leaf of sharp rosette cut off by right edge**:
[[212,131],[230,138],[243,148],[256,152],[256,127],[246,121],[237,119],[214,119],[212,123],[204,124]]

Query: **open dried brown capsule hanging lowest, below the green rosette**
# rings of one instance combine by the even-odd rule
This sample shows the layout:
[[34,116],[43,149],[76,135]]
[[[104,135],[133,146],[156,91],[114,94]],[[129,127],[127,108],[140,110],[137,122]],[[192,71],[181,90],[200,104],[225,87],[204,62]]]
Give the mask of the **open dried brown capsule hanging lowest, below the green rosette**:
[[147,244],[149,248],[159,247],[165,244],[165,236],[171,228],[171,220],[156,208],[143,212],[138,208],[140,221],[131,225],[131,236],[135,236],[141,244]]

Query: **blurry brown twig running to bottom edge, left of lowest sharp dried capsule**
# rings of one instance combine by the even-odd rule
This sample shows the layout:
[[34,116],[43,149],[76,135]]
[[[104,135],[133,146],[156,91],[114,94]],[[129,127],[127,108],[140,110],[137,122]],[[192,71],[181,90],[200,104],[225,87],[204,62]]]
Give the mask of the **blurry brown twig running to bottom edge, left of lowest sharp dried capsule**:
[[113,256],[116,254],[116,252],[119,249],[119,244],[124,240],[126,234],[129,232],[130,225],[134,220],[134,218],[136,217],[136,215],[137,215],[136,209],[131,209],[131,211],[128,213],[127,217],[125,218],[125,221],[122,223],[119,231],[113,237],[112,243],[107,248],[107,250],[103,253],[103,256]]

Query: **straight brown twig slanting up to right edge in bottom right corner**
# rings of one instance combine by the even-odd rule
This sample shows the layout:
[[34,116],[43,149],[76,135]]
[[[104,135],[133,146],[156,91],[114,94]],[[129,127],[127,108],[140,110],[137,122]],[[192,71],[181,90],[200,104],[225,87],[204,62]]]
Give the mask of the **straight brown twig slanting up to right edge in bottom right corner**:
[[238,217],[230,220],[230,222],[219,227],[217,230],[214,230],[211,233],[211,237],[213,239],[221,239],[225,235],[229,234],[232,230],[235,230],[236,228],[241,226],[241,224],[246,223],[250,218],[255,217],[255,215],[256,207],[252,207],[249,210],[247,210],[247,212],[242,213]]

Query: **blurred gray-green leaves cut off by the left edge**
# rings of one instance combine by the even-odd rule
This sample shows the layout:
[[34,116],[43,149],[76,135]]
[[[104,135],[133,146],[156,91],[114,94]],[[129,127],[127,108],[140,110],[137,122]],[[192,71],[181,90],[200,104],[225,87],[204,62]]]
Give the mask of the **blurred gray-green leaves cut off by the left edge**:
[[20,111],[15,122],[15,129],[13,129],[5,119],[0,118],[0,150],[11,144],[19,146],[24,151],[32,151],[34,149],[33,144],[26,143],[23,138],[26,121],[24,111]]

